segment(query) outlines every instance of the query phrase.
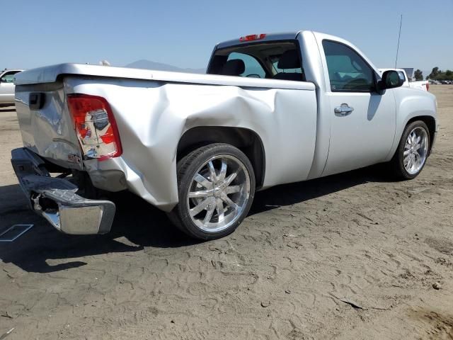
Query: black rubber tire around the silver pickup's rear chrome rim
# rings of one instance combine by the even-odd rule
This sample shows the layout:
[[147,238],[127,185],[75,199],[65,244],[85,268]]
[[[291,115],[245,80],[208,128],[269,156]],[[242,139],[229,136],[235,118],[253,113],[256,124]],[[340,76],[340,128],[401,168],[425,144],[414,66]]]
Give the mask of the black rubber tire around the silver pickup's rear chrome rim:
[[[190,188],[194,183],[193,178],[203,166],[203,164],[208,162],[213,157],[221,157],[224,155],[226,157],[233,157],[235,162],[241,162],[241,164],[243,165],[243,168],[241,168],[244,174],[243,176],[246,176],[246,171],[248,173],[248,179],[250,180],[250,190],[247,200],[243,200],[241,212],[238,212],[238,215],[234,219],[235,222],[233,222],[234,220],[231,220],[231,225],[226,227],[226,229],[210,232],[197,227],[197,225],[195,225],[195,222],[193,222],[192,217],[190,216],[190,207],[188,206],[188,195]],[[236,227],[238,227],[243,219],[247,216],[248,210],[250,210],[253,202],[253,197],[255,196],[255,174],[253,172],[253,166],[251,165],[248,157],[246,157],[246,155],[243,154],[241,150],[231,145],[223,143],[210,144],[195,149],[193,152],[190,152],[190,154],[187,154],[185,157],[180,159],[177,164],[176,171],[178,176],[179,202],[178,205],[176,205],[176,207],[168,213],[168,217],[170,218],[171,222],[173,222],[173,224],[176,225],[176,227],[178,227],[181,231],[185,232],[185,234],[188,234],[190,237],[193,237],[195,239],[219,239],[226,236],[227,234],[231,234],[231,232],[234,232]],[[217,215],[219,215],[218,210],[215,211]],[[220,220],[220,217],[217,217],[217,219]]]

